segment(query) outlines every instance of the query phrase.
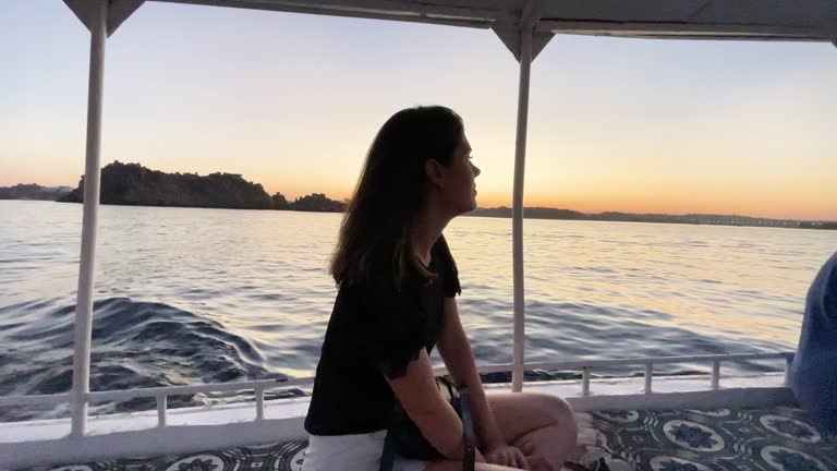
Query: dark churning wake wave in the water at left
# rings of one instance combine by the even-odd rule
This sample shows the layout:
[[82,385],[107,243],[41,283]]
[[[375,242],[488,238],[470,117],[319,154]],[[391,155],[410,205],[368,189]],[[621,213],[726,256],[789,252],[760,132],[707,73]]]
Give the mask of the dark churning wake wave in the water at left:
[[[0,334],[9,350],[0,353],[0,395],[66,392],[72,386],[75,306],[61,306],[37,318],[12,322],[0,310]],[[28,306],[31,307],[31,306]],[[20,369],[26,365],[26,369]],[[283,378],[270,373],[262,353],[221,323],[171,305],[111,298],[94,304],[90,390],[132,389],[186,384]],[[266,396],[300,396],[294,389]],[[231,402],[251,392],[197,394],[169,397],[169,407]],[[90,413],[149,410],[154,398],[90,404]],[[65,406],[0,409],[0,421],[69,416]]]

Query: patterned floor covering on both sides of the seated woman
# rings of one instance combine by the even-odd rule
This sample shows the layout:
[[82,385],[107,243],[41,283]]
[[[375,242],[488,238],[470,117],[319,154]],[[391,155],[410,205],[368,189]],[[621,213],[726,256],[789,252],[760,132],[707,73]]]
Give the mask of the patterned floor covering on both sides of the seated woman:
[[[599,455],[611,470],[624,461],[636,471],[834,471],[837,435],[790,407],[716,410],[592,412]],[[305,442],[66,463],[41,470],[296,471]],[[594,454],[595,455],[595,454]],[[624,464],[623,464],[624,466]]]

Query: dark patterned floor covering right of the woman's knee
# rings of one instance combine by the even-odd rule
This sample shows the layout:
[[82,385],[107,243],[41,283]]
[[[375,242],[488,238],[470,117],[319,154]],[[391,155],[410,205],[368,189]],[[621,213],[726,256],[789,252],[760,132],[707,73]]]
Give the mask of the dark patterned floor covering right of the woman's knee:
[[837,470],[837,435],[794,408],[592,415],[599,446],[638,471]]

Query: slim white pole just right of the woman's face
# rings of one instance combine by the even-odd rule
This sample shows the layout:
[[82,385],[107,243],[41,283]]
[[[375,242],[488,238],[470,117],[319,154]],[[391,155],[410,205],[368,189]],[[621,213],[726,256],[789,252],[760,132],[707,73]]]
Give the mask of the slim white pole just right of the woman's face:
[[514,190],[511,210],[511,234],[514,282],[514,364],[511,390],[523,390],[523,353],[525,351],[523,298],[523,174],[526,161],[526,126],[529,124],[529,76],[532,67],[532,26],[520,34],[520,84],[518,88],[518,138],[514,148]]

